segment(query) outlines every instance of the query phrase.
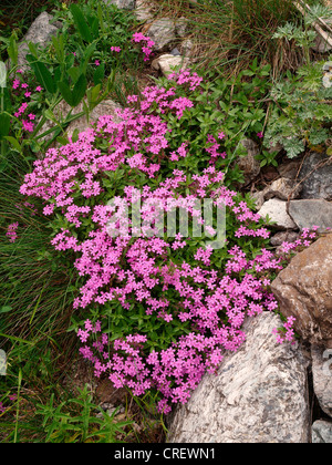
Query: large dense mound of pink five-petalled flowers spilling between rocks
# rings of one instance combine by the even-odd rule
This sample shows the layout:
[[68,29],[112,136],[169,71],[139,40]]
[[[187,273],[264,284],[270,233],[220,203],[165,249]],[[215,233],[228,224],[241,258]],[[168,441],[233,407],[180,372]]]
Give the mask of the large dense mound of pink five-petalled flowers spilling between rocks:
[[[188,70],[172,79],[193,92],[201,82]],[[127,386],[136,395],[157,390],[159,411],[167,413],[173,404],[187,402],[225,351],[243,343],[246,318],[278,308],[269,286],[283,257],[264,247],[269,231],[262,219],[225,186],[214,163],[198,174],[169,168],[168,161],[191,155],[187,142],[172,146],[164,116],[181,120],[194,106],[189,99],[178,96],[176,87],[148,86],[128,104],[115,117],[101,116],[76,142],[50,148],[34,162],[20,192],[44,200],[44,215],[58,225],[54,248],[76,257],[84,283],[74,308],[100,309],[98,320],[86,320],[77,332],[82,355],[94,364],[96,376],[107,375],[116,388]],[[218,140],[224,138],[220,130]],[[226,156],[212,135],[207,142],[211,159]],[[232,225],[224,250],[208,240],[217,230],[203,216],[203,199],[215,211],[226,210]],[[190,234],[166,234],[165,218],[178,210],[186,214]],[[314,238],[309,231],[304,236],[305,241]],[[240,247],[247,238],[255,252]],[[294,248],[300,245],[305,244]],[[127,332],[122,328],[122,335],[114,337],[118,308]],[[149,340],[149,320],[163,334],[158,342]],[[291,328],[286,329],[288,340]]]

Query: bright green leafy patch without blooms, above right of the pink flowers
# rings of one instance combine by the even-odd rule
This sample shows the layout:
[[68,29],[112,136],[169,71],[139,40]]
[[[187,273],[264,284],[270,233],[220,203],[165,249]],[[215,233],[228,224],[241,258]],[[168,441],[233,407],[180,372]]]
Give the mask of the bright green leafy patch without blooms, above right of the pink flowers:
[[[218,157],[216,167],[226,173],[225,184],[234,186],[243,182],[237,167],[238,157],[247,155],[240,143],[243,138],[259,142],[258,134],[263,130],[267,114],[267,96],[270,92],[270,65],[259,65],[255,60],[249,69],[241,71],[232,79],[225,79],[215,73],[205,73],[200,90],[190,93],[194,107],[184,112],[180,121],[174,115],[166,117],[170,133],[170,148],[176,149],[183,143],[189,143],[190,157],[168,163],[165,169],[179,168],[187,173],[199,173],[210,159],[204,148],[210,147],[208,136],[218,141],[218,134],[225,138],[219,141],[219,153],[225,152],[225,158]],[[173,82],[158,80],[169,89]],[[186,95],[187,90],[178,90]]]

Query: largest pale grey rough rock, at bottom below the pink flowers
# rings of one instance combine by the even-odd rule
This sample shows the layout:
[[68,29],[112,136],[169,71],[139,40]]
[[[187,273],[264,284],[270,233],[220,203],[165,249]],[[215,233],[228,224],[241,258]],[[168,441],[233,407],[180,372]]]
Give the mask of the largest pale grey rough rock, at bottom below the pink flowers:
[[276,327],[270,312],[247,320],[243,345],[176,409],[169,443],[309,442],[308,360],[300,345],[276,343]]

